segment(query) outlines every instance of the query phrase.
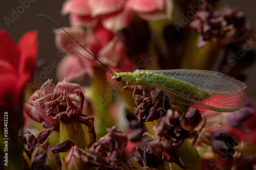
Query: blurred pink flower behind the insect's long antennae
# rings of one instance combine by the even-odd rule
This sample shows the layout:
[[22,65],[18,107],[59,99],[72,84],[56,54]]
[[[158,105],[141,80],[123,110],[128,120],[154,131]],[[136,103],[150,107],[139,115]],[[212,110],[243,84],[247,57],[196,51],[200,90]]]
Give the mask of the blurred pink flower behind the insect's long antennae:
[[[81,29],[66,29],[78,42],[84,46],[96,58],[102,61],[108,67],[122,67],[130,69],[131,62],[127,59],[126,48],[123,42],[114,36],[112,32],[99,26],[94,30],[94,34],[88,34]],[[56,46],[59,50],[69,54],[63,59],[57,69],[59,80],[66,78],[67,81],[83,79],[86,76],[93,77],[93,67],[96,66],[81,55],[87,57],[93,62],[99,63],[87,51],[82,49],[69,35],[61,29],[55,30]],[[69,48],[71,47],[71,48]],[[72,50],[73,49],[73,50]],[[81,55],[74,52],[76,50]],[[121,61],[121,56],[122,61]],[[100,68],[101,69],[101,68]]]

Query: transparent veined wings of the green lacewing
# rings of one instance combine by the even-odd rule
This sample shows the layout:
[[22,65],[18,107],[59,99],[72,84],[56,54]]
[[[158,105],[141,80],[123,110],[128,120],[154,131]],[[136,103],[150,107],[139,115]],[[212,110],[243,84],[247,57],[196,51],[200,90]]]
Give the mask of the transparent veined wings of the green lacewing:
[[193,95],[189,95],[191,91],[183,90],[182,86],[176,84],[165,86],[165,83],[161,83],[161,81],[157,81],[156,83],[144,82],[147,86],[173,94],[168,96],[170,100],[177,103],[214,111],[231,112],[239,110],[248,101],[248,96],[244,91],[246,85],[220,72],[189,69],[145,71],[152,71],[155,77],[157,74],[184,81],[211,94],[208,99],[199,99]]

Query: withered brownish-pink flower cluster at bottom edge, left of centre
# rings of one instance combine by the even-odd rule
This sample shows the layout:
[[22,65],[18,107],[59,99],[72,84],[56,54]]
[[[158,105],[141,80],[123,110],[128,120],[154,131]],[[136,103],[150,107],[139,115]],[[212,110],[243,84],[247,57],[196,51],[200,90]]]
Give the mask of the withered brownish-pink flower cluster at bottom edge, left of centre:
[[107,130],[108,134],[101,137],[86,151],[76,146],[72,147],[62,168],[120,169],[119,167],[129,167],[124,153],[128,141],[127,136],[115,126]]

